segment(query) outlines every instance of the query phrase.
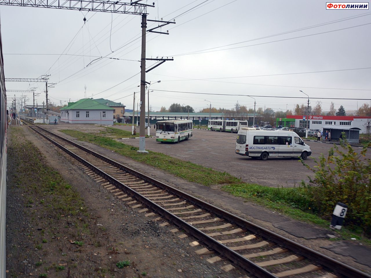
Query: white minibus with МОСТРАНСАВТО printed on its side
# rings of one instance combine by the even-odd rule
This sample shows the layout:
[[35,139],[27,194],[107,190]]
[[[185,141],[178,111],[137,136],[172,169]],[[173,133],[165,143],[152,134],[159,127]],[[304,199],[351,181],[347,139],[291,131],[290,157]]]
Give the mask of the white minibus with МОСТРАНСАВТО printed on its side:
[[262,160],[268,157],[301,157],[305,160],[312,151],[293,131],[242,128],[237,134],[236,154]]

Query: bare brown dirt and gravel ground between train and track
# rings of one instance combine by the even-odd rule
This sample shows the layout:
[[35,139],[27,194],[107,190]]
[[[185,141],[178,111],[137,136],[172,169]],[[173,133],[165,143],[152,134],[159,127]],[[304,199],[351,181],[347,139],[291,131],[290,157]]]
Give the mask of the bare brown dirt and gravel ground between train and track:
[[[221,270],[220,267],[228,262],[207,263],[204,256],[194,252],[204,246],[191,247],[189,243],[194,239],[179,239],[170,232],[174,226],[160,227],[164,220],[154,222],[138,210],[125,206],[101,184],[70,164],[48,141],[27,127],[21,129],[25,138],[14,138],[12,133],[15,132],[10,128],[8,146],[12,147],[14,140],[30,140],[35,144],[45,156],[45,163],[57,169],[79,192],[90,217],[86,219],[88,232],[80,235],[74,230],[73,215],[60,220],[40,220],[36,206],[27,205],[27,200],[37,196],[26,194],[13,183],[17,162],[8,157],[7,277],[227,278],[244,274],[239,270]],[[44,239],[47,242],[41,243]],[[83,245],[71,241],[82,241]],[[41,246],[37,248],[37,243],[42,245],[41,249]],[[130,266],[119,269],[116,266],[119,261],[130,261]],[[43,274],[46,276],[40,276]]]

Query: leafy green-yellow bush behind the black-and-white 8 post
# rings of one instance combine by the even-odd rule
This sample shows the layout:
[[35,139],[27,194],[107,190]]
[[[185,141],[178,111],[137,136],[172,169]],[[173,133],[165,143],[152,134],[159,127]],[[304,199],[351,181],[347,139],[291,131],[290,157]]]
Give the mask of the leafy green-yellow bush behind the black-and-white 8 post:
[[357,152],[344,139],[340,147],[331,147],[327,156],[321,154],[315,160],[316,166],[310,167],[302,160],[315,174],[314,179],[309,177],[309,184],[302,183],[313,211],[329,218],[336,203],[342,202],[348,206],[344,225],[361,228],[368,237],[371,236],[371,160],[365,156],[370,146],[371,143]]

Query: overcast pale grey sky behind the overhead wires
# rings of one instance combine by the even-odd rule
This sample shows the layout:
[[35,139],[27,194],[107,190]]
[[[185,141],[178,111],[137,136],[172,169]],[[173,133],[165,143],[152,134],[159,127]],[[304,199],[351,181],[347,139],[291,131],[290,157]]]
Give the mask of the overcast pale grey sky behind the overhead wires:
[[[148,8],[148,19],[175,18],[176,22],[162,29],[169,30],[169,35],[147,33],[147,58],[174,57],[147,73],[147,81],[161,80],[150,87],[154,111],[173,102],[196,111],[209,107],[210,102],[217,108],[233,108],[237,101],[254,106],[253,99],[244,96],[183,92],[306,97],[302,90],[310,98],[371,98],[370,10],[326,10],[326,2],[317,0],[154,2],[155,7]],[[0,21],[6,78],[50,74],[49,82],[56,85],[49,88],[49,99],[55,104],[83,98],[86,85],[87,97],[122,102],[132,109],[133,92],[139,91],[140,83],[140,16],[0,6]],[[148,27],[154,26],[148,22]],[[122,60],[92,62],[106,55]],[[147,61],[147,68],[152,64]],[[354,70],[340,71],[345,69]],[[6,83],[7,89],[35,86],[40,104],[45,100],[45,83]],[[14,94],[21,95],[9,95]],[[27,95],[31,104],[32,94]],[[311,99],[311,105],[316,101]],[[322,109],[328,110],[331,100],[321,101]],[[257,108],[283,111],[286,104],[293,109],[305,102],[256,97]],[[334,102],[336,109],[340,105],[357,109],[357,101]],[[358,106],[364,102],[358,101]]]

